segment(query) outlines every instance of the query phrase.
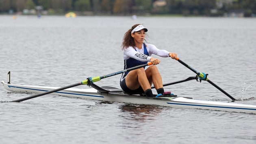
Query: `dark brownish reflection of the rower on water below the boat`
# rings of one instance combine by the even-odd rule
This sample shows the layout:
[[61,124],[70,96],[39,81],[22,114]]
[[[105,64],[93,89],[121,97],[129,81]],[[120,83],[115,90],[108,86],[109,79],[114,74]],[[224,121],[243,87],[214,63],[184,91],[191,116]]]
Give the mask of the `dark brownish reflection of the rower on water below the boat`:
[[120,109],[122,112],[127,113],[125,119],[144,122],[145,120],[154,120],[154,116],[162,112],[163,107],[145,104],[125,104],[120,106]]

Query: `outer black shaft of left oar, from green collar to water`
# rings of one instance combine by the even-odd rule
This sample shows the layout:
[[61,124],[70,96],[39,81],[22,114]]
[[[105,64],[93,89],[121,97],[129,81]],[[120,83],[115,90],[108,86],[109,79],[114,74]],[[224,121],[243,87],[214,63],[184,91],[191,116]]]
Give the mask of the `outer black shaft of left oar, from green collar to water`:
[[46,95],[46,94],[49,94],[49,93],[54,93],[54,92],[56,92],[56,91],[61,91],[61,90],[63,90],[63,89],[68,89],[68,88],[71,88],[71,87],[76,87],[76,86],[78,86],[78,85],[81,85],[81,83],[76,83],[76,84],[69,85],[69,86],[66,86],[66,87],[61,87],[61,88],[59,88],[59,89],[53,89],[53,90],[51,90],[51,91],[46,91],[46,92],[44,92],[44,93],[39,93],[39,94],[37,94],[37,95],[32,95],[32,96],[30,96],[30,97],[24,97],[24,98],[19,99],[19,100],[13,100],[13,101],[11,101],[11,102],[22,102],[22,101],[24,101],[24,100],[32,99],[32,98],[39,97],[39,96],[42,96],[42,95]]

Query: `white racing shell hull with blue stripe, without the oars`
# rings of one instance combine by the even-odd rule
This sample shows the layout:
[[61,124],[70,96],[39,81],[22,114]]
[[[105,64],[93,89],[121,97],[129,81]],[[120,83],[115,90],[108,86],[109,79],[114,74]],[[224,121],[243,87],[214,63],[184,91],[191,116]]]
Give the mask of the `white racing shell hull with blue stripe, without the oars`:
[[[58,87],[17,85],[1,81],[4,88],[17,93],[43,93],[58,89]],[[238,104],[234,102],[216,102],[205,100],[194,100],[189,97],[178,97],[177,95],[165,95],[162,97],[146,97],[141,94],[127,94],[115,87],[99,87],[93,84],[93,88],[68,88],[56,91],[54,94],[80,97],[91,100],[101,100],[108,102],[122,102],[132,104],[150,104],[158,106],[168,106],[174,108],[197,108],[205,110],[219,110],[227,112],[245,112],[256,114],[256,106],[248,104]]]

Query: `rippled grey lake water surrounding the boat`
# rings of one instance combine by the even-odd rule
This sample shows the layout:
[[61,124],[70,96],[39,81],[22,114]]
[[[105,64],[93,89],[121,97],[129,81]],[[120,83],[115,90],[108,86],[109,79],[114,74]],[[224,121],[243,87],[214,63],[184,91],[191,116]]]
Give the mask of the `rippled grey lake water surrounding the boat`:
[[[256,104],[256,19],[207,17],[0,16],[0,80],[64,87],[123,69],[121,41],[136,23],[147,41],[175,52],[238,99]],[[157,56],[156,56],[157,57]],[[178,61],[161,58],[163,83],[195,76]],[[119,86],[121,75],[97,82]],[[85,85],[78,86],[87,87]],[[202,81],[165,87],[199,100],[230,102]],[[155,90],[154,90],[155,92]],[[33,94],[31,94],[33,95]],[[29,94],[0,87],[0,100]],[[76,99],[49,94],[0,103],[2,144],[255,144],[256,115]]]

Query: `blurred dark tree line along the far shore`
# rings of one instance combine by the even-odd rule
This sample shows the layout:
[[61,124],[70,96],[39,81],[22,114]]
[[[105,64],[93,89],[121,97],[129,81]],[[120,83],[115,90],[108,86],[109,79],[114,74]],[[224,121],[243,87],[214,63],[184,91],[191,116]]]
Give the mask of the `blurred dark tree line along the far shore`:
[[22,12],[42,6],[48,14],[74,11],[80,15],[203,15],[242,12],[256,14],[256,0],[0,0],[0,13]]

